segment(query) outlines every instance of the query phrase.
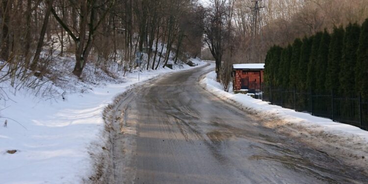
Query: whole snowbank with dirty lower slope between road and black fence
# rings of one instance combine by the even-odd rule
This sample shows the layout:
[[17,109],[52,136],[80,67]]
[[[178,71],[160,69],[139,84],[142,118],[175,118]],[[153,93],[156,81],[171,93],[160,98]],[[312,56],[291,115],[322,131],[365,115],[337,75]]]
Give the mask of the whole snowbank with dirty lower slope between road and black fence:
[[368,172],[368,131],[308,113],[269,105],[248,95],[225,92],[216,81],[215,72],[207,74],[200,83],[215,96],[253,114],[264,126],[288,134],[351,165],[365,168]]

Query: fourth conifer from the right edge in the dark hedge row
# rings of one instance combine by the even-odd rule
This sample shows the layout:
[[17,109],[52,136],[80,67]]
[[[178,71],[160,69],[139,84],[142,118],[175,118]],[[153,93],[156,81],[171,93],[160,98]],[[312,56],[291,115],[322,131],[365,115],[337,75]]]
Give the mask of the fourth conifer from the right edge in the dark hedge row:
[[327,69],[329,46],[330,46],[330,34],[325,29],[319,43],[317,60],[315,63],[316,91],[325,91],[326,89],[325,82],[326,82],[326,69]]

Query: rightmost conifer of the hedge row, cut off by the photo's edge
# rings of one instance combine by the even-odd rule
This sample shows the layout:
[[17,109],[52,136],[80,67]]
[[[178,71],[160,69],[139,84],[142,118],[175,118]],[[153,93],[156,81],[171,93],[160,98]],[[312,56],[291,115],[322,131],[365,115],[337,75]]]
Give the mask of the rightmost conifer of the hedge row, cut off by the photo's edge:
[[363,23],[360,33],[355,73],[356,89],[363,98],[368,99],[368,19]]

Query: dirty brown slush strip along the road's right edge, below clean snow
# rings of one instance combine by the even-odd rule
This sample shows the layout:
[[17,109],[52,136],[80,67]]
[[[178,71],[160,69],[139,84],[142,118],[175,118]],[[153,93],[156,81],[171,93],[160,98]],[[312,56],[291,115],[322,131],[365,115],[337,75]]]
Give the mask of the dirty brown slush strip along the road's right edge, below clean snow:
[[[356,168],[357,170],[361,171],[366,176],[368,176],[368,170],[365,169],[368,167],[368,162],[367,162],[368,155],[365,155],[365,156],[356,155],[355,153],[353,153],[352,151],[353,149],[351,148],[350,145],[346,145],[343,143],[339,143],[339,146],[340,146],[339,148],[336,147],[334,143],[339,142],[338,141],[339,137],[336,137],[337,135],[333,135],[333,134],[328,135],[325,131],[313,132],[313,130],[309,129],[306,126],[298,125],[292,122],[288,122],[284,119],[281,119],[277,114],[265,114],[262,111],[259,111],[257,109],[253,109],[251,107],[244,106],[241,103],[226,97],[225,95],[220,95],[220,94],[212,92],[210,90],[210,87],[213,87],[213,86],[210,86],[210,87],[207,86],[207,83],[205,81],[209,73],[210,72],[201,75],[200,78],[197,80],[199,86],[201,86],[206,92],[219,98],[220,100],[226,102],[227,104],[232,105],[248,113],[249,115],[252,115],[257,121],[260,122],[261,126],[265,128],[273,129],[274,131],[284,134],[290,138],[293,138],[296,141],[305,143],[306,145],[310,146],[311,148],[314,148],[315,150],[323,154],[332,156],[334,158],[338,158],[339,160],[344,162],[346,165]],[[308,132],[309,135],[299,133],[299,131],[301,130],[303,132]],[[312,139],[311,140],[304,139],[305,136],[311,136]],[[325,140],[326,136],[335,136],[334,140],[337,140],[337,141],[335,142],[326,141]],[[317,144],[316,143],[317,141],[319,141],[318,143],[322,142],[322,144]],[[365,153],[367,152],[368,150],[365,151]]]

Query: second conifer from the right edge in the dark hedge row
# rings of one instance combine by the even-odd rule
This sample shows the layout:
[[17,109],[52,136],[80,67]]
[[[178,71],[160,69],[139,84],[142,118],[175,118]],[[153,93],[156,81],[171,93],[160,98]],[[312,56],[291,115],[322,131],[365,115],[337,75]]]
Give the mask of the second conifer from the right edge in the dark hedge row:
[[349,24],[346,27],[343,50],[342,50],[342,62],[340,71],[340,93],[349,94],[355,91],[355,65],[357,60],[357,49],[359,45],[360,26],[357,24]]

